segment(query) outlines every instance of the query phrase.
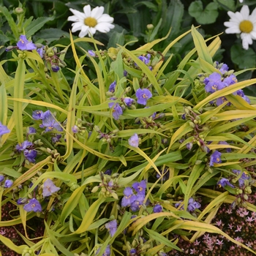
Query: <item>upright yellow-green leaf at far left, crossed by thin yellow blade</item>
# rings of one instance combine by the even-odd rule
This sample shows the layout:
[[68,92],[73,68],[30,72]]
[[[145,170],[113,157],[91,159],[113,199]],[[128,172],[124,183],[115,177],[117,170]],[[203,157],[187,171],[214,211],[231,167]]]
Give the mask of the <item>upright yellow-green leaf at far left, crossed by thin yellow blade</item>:
[[[23,99],[24,83],[25,83],[25,63],[24,59],[19,59],[18,67],[14,79],[14,95],[13,97]],[[23,116],[22,102],[13,102],[13,113],[15,117],[15,129],[18,143],[23,142]]]

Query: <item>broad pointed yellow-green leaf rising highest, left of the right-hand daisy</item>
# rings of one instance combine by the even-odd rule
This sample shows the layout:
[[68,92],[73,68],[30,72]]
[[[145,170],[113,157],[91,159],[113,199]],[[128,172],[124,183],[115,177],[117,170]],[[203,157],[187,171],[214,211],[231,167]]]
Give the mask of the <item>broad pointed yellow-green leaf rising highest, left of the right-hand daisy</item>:
[[193,25],[191,33],[195,43],[195,48],[197,49],[198,57],[204,61],[207,61],[209,64],[213,64],[205,39],[203,39],[203,36],[195,29],[195,26]]

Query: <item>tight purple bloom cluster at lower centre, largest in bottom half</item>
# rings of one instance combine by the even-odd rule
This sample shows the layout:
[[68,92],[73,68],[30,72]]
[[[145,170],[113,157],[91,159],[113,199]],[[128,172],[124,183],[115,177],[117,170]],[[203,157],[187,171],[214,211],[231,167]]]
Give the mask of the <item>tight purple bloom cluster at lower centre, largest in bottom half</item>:
[[145,200],[146,180],[135,182],[132,187],[126,187],[123,193],[124,197],[121,200],[121,206],[129,206],[132,211],[138,211]]

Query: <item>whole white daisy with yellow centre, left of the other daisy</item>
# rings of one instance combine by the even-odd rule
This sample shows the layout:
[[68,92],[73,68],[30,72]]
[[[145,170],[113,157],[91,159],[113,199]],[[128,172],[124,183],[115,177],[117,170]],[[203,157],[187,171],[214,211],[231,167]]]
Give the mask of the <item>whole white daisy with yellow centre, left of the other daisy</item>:
[[88,4],[83,7],[83,12],[78,12],[72,8],[69,9],[74,15],[69,16],[67,20],[74,21],[72,23],[72,32],[80,30],[78,37],[85,37],[86,34],[93,35],[96,31],[107,33],[115,26],[114,19],[108,14],[103,14],[104,7],[95,7],[91,10],[91,6]]

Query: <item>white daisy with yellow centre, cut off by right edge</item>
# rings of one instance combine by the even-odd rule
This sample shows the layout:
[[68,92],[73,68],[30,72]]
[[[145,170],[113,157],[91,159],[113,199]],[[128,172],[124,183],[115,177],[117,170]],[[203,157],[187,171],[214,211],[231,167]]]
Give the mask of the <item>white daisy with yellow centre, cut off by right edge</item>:
[[256,8],[249,15],[249,7],[244,5],[240,12],[227,12],[230,21],[224,23],[227,26],[225,32],[227,34],[241,34],[243,48],[248,50],[252,45],[252,39],[256,39]]

